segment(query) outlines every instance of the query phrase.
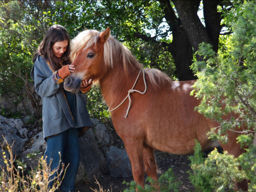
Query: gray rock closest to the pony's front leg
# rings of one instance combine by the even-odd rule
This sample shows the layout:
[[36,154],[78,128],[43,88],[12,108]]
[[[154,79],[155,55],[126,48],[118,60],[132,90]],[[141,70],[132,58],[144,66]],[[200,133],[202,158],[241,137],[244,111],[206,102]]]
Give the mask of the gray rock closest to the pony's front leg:
[[125,150],[110,146],[106,156],[106,167],[110,177],[127,178],[132,176],[131,162]]

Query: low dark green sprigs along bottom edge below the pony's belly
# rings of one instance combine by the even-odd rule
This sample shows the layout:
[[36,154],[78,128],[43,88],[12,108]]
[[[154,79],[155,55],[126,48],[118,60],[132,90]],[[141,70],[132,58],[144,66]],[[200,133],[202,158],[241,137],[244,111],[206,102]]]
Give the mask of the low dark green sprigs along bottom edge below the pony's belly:
[[124,184],[129,186],[129,188],[125,189],[124,192],[135,192],[136,189],[139,192],[153,192],[158,191],[158,189],[161,192],[177,192],[179,191],[179,186],[181,185],[181,182],[176,181],[176,177],[174,176],[172,169],[167,170],[167,172],[160,176],[157,181],[147,177],[146,182],[150,182],[150,184],[146,184],[143,189],[141,186],[138,186],[135,181],[124,181]]

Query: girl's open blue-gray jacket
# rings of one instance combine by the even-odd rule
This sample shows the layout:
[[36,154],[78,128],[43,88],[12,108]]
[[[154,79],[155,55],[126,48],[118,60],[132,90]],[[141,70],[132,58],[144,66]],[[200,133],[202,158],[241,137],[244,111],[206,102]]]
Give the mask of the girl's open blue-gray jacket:
[[44,138],[59,134],[71,127],[80,128],[80,135],[91,127],[91,118],[87,111],[86,94],[75,93],[74,114],[65,97],[62,84],[53,80],[53,71],[42,56],[35,61],[31,78],[35,82],[35,91],[42,98],[42,122]]

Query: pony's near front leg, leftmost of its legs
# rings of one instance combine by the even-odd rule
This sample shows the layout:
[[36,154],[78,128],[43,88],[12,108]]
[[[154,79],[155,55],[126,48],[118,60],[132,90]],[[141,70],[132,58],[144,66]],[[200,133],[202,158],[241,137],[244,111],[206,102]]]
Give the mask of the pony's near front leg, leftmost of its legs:
[[125,150],[132,165],[132,176],[135,182],[144,188],[143,144],[139,141],[124,141]]

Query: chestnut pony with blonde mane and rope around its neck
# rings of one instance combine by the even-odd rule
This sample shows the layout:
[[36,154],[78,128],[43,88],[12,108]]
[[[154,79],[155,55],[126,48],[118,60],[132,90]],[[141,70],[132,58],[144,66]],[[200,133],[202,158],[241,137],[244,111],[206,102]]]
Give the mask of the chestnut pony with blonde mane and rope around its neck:
[[221,144],[234,157],[244,152],[236,142],[238,132],[229,131],[226,144],[208,139],[207,132],[218,124],[195,111],[200,104],[190,95],[195,80],[173,81],[160,70],[143,69],[131,51],[110,35],[109,27],[103,32],[80,32],[72,40],[70,58],[75,72],[65,79],[64,88],[79,91],[84,79],[99,84],[137,184],[144,186],[144,172],[157,180],[154,150],[193,154],[196,139],[202,150]]

